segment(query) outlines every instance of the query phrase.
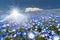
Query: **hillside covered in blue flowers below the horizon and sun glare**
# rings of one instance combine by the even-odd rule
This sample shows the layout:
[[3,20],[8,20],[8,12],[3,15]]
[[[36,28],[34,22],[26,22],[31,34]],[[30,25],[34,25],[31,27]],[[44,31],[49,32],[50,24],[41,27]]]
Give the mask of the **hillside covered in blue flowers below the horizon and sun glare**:
[[21,16],[17,20],[9,17],[9,20],[0,21],[0,40],[60,40],[59,11],[43,10],[25,14],[29,17],[23,21],[18,21]]

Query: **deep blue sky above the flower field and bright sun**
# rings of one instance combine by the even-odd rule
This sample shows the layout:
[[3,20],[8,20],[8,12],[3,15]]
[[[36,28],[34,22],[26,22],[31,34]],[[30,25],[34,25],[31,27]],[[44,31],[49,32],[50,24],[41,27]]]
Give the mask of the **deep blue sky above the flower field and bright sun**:
[[0,0],[0,10],[6,10],[12,5],[21,9],[27,7],[58,9],[60,8],[60,0]]

